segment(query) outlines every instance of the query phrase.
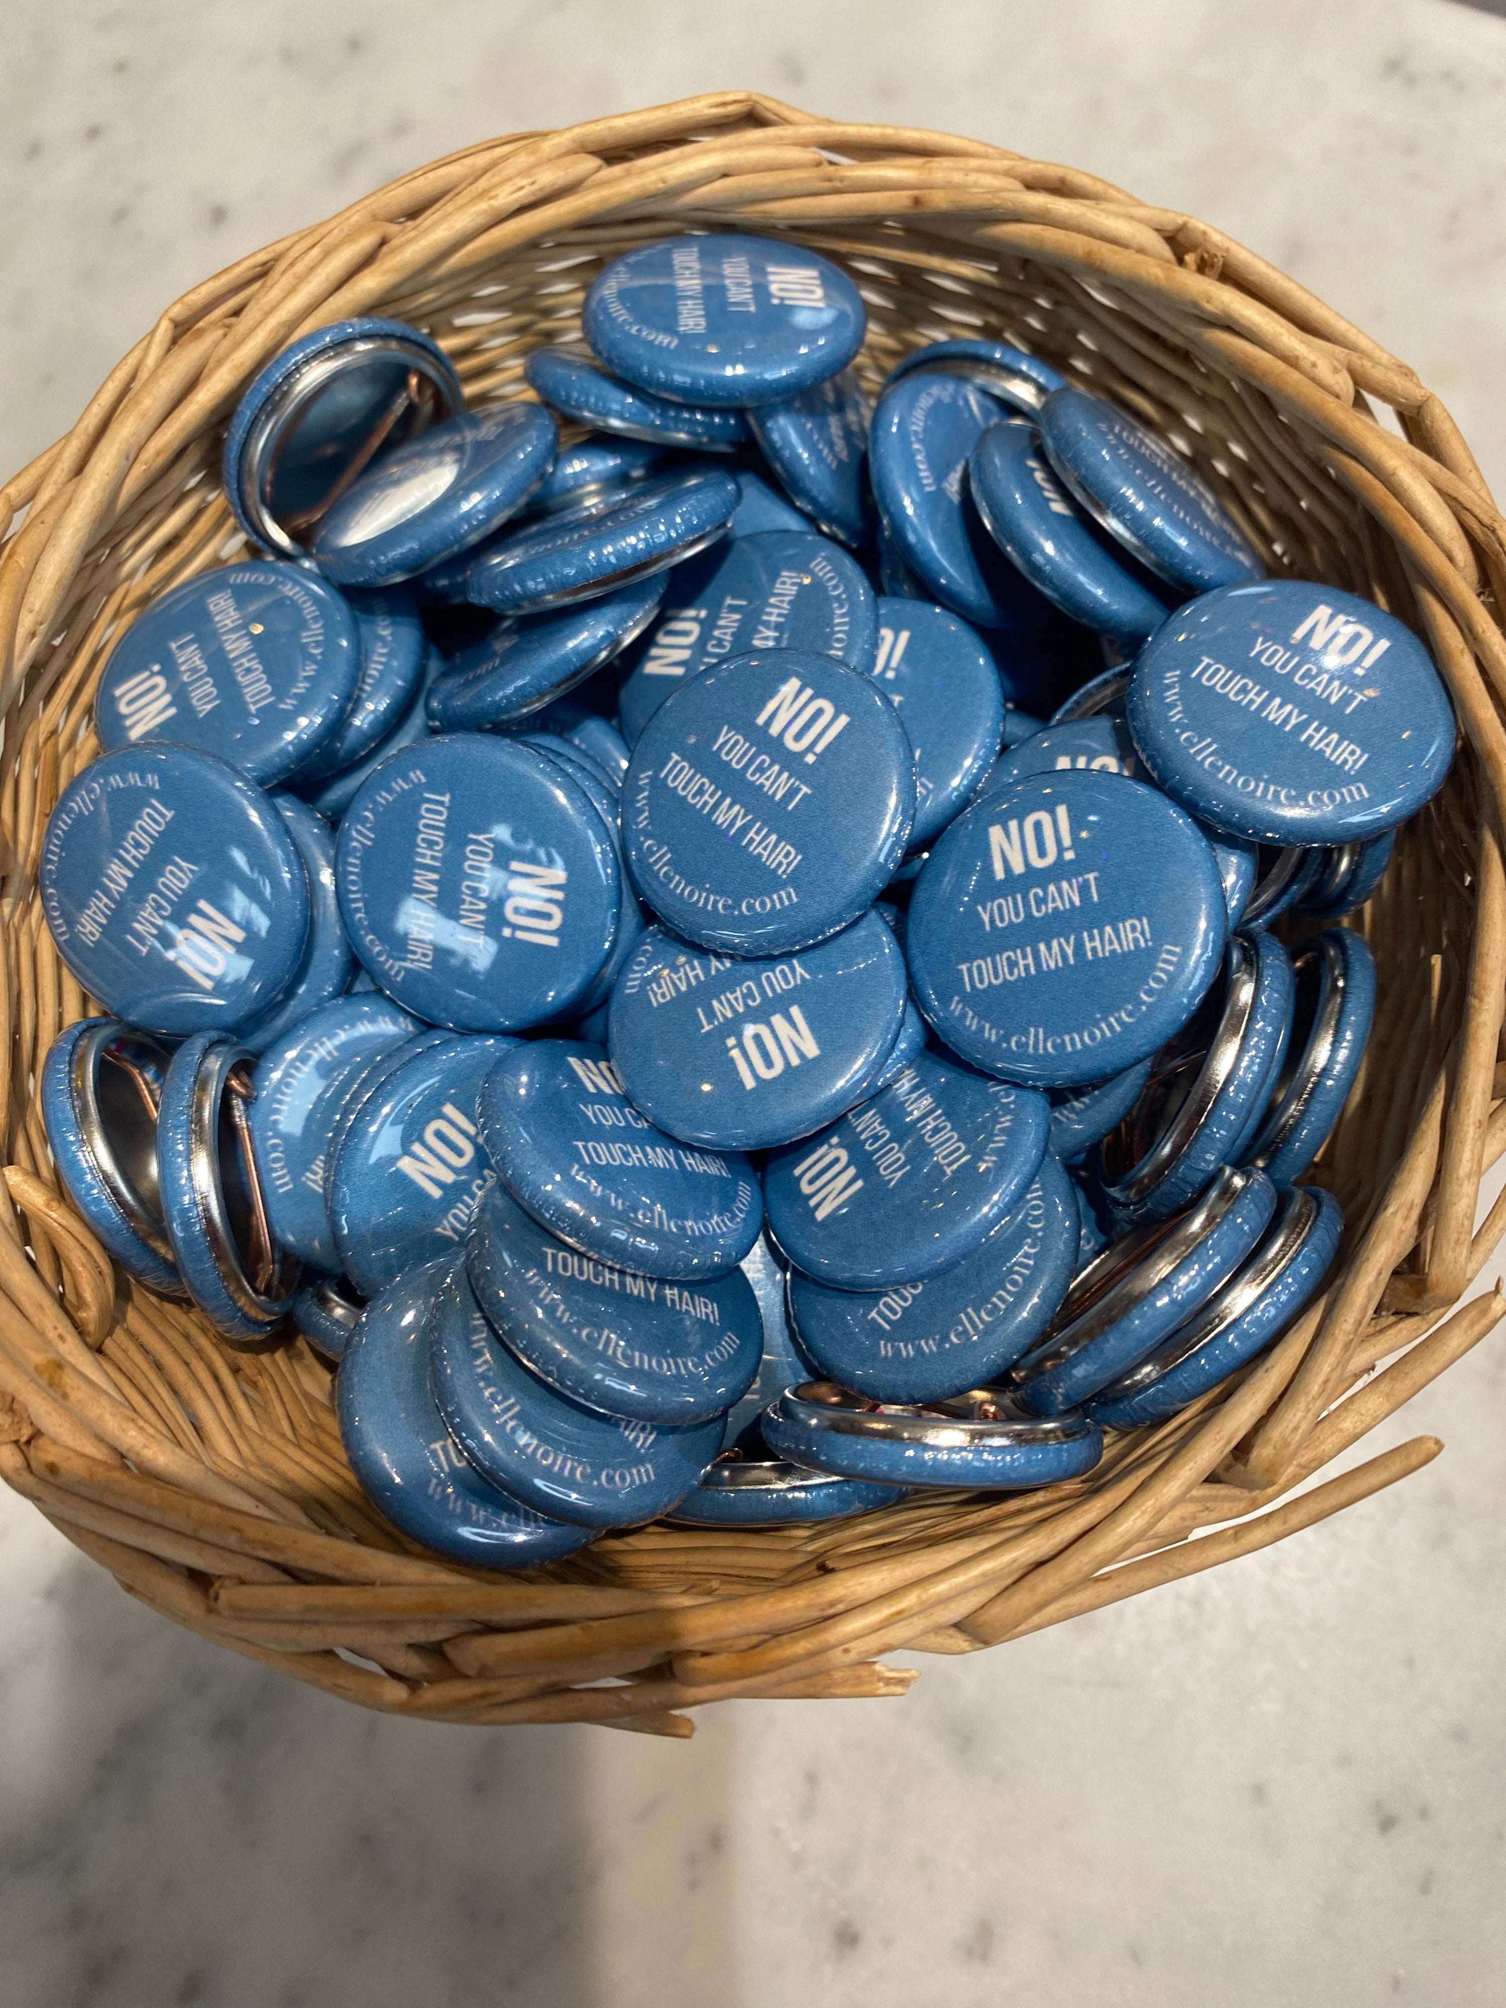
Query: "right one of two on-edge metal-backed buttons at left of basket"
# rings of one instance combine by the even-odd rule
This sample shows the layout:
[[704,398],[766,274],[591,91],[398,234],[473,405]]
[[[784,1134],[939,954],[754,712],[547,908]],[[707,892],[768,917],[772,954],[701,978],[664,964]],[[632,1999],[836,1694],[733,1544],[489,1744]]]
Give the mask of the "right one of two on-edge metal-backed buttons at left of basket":
[[195,1032],[173,1054],[157,1110],[157,1183],[179,1275],[229,1339],[261,1339],[293,1301],[297,1263],[267,1233],[247,1104],[255,1054]]

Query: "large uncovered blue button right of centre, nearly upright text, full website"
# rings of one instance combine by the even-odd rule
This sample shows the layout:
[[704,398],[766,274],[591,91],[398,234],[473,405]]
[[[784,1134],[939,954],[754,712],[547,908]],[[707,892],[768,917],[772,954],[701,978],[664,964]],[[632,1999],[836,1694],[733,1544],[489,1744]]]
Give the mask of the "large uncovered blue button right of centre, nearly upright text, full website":
[[1066,1088],[1165,1046],[1223,938],[1223,886],[1193,819],[1139,781],[1072,771],[952,823],[916,882],[906,956],[956,1052]]

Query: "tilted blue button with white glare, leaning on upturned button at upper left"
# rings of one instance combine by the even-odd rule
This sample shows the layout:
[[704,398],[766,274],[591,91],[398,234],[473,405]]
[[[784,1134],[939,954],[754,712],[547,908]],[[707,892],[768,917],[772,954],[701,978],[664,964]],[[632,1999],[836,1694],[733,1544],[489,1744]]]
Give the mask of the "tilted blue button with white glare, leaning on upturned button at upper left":
[[554,466],[554,416],[512,400],[384,454],[319,518],[309,552],[337,586],[396,586],[470,550]]

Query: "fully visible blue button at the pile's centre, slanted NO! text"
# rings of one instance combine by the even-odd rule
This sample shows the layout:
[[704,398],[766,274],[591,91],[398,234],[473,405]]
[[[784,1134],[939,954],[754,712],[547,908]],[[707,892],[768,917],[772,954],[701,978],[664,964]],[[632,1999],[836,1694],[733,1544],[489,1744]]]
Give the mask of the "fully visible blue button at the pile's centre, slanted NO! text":
[[741,956],[857,920],[900,863],[916,759],[859,671],[797,649],[683,685],[633,749],[629,869],[679,936]]

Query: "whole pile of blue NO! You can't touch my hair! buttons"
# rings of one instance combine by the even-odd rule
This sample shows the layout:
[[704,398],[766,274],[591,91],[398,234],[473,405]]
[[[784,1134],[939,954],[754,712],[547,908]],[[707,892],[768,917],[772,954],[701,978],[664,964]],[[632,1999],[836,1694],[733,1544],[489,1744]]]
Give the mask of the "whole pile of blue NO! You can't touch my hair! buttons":
[[1080,1478],[1335,1255],[1434,665],[1030,355],[869,410],[801,245],[582,325],[538,402],[388,321],[247,392],[263,556],[114,637],[42,845],[58,1171],[482,1566]]

